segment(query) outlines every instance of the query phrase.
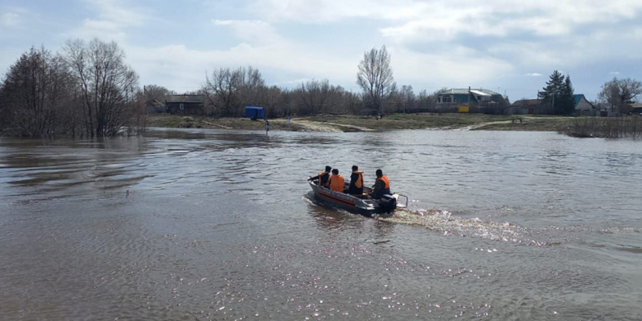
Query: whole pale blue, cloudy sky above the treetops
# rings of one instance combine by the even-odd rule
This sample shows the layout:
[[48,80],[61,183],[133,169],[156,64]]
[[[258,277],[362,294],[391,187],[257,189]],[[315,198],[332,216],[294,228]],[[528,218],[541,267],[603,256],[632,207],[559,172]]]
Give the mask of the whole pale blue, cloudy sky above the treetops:
[[358,92],[360,60],[382,46],[415,93],[536,98],[559,70],[592,101],[613,77],[642,80],[642,0],[0,0],[1,76],[31,46],[94,38],[118,43],[141,86],[178,93],[239,66]]

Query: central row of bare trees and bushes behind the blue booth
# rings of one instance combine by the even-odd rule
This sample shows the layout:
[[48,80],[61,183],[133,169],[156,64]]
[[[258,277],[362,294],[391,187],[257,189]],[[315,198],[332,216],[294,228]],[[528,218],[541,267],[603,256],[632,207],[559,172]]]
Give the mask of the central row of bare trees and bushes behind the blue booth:
[[198,93],[207,97],[205,113],[210,116],[240,116],[245,106],[263,106],[268,117],[434,111],[436,93],[416,95],[412,86],[397,88],[385,46],[365,52],[357,84],[362,89],[357,93],[327,79],[302,81],[294,88],[266,86],[260,71],[249,66],[215,69]]

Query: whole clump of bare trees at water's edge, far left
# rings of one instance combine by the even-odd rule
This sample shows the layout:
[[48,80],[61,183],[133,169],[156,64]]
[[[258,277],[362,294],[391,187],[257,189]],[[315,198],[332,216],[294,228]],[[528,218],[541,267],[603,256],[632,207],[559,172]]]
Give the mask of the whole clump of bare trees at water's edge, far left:
[[115,42],[31,48],[0,83],[0,131],[21,137],[104,137],[144,127],[138,74]]

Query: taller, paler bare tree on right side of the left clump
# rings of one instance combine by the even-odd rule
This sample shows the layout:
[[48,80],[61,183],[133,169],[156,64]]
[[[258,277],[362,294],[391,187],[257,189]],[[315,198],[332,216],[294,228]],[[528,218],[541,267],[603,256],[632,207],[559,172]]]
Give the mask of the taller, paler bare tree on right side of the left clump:
[[135,116],[138,75],[124,63],[116,42],[68,41],[65,61],[78,84],[86,134],[115,136]]

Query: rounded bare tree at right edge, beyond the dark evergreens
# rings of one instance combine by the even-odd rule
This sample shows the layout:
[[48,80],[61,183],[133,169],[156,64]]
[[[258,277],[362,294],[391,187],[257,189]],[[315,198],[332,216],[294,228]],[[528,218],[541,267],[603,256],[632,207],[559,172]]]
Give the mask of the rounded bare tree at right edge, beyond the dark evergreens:
[[628,113],[631,110],[629,104],[633,103],[640,94],[642,94],[640,81],[631,78],[613,78],[602,85],[602,91],[598,93],[598,100],[606,103],[611,111]]

